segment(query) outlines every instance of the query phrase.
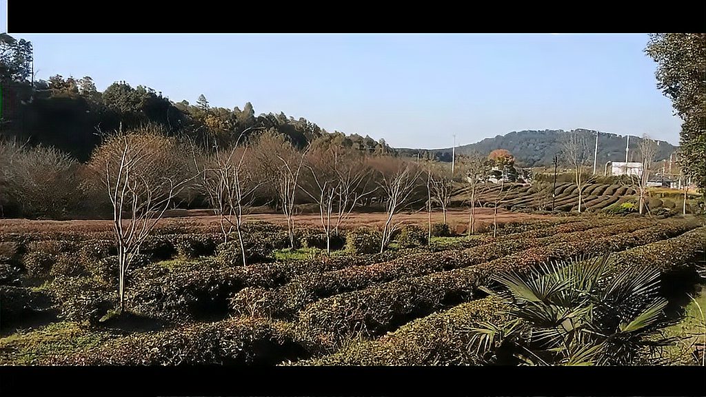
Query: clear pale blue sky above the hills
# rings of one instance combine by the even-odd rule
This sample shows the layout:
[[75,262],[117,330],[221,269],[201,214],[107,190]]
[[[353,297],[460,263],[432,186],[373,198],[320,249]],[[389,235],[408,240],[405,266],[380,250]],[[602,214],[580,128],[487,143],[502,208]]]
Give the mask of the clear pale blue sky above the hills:
[[174,101],[306,117],[327,131],[443,148],[523,129],[678,143],[647,34],[32,35],[37,78],[147,85]]

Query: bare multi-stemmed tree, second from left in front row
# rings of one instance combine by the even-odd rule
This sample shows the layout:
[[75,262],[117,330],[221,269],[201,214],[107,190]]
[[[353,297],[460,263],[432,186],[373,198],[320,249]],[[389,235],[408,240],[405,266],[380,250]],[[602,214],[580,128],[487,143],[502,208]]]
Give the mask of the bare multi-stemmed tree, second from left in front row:
[[214,141],[214,153],[207,156],[203,168],[199,167],[196,155],[194,162],[201,175],[201,189],[218,215],[223,241],[228,242],[233,230],[237,232],[243,266],[246,266],[243,215],[249,213],[254,193],[262,186],[263,179],[256,173],[249,145],[244,143],[239,146],[244,132],[234,146],[226,150],[220,150],[217,141]]

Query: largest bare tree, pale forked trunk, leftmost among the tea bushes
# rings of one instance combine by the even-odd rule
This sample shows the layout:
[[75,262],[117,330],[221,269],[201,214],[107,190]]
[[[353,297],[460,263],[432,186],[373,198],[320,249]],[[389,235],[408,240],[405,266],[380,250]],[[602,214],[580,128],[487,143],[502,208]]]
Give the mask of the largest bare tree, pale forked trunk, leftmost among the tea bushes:
[[126,273],[140,247],[172,199],[193,179],[183,154],[176,139],[145,127],[133,134],[119,132],[109,137],[90,160],[92,170],[102,174],[113,207],[119,312],[126,308]]

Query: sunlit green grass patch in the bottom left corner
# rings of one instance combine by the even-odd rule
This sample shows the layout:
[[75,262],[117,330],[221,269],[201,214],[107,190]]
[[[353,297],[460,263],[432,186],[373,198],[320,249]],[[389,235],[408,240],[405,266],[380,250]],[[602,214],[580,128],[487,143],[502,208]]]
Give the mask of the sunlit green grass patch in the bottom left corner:
[[49,324],[0,338],[0,365],[42,365],[50,357],[96,347],[114,337],[104,331],[90,331],[75,322]]

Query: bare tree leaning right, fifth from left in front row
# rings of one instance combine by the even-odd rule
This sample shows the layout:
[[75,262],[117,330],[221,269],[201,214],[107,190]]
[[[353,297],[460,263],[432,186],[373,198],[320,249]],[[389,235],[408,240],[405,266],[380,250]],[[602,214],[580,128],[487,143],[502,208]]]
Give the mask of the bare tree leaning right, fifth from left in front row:
[[412,203],[414,188],[419,184],[421,174],[421,168],[412,162],[396,158],[385,160],[387,164],[383,163],[383,168],[378,169],[380,179],[377,182],[386,198],[381,253],[390,242],[393,232],[400,226],[400,223],[393,220],[395,214]]

